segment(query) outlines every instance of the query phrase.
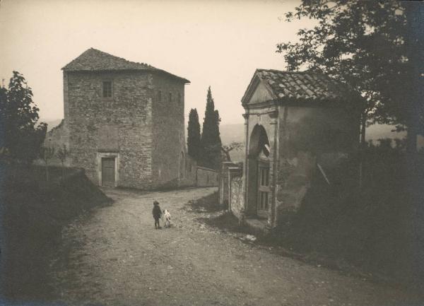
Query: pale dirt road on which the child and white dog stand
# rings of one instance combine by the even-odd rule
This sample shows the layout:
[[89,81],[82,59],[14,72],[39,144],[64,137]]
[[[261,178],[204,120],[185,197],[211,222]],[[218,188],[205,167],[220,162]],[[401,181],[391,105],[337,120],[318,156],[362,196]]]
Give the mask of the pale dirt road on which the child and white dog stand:
[[[216,189],[107,190],[69,225],[52,278],[74,305],[420,305],[404,291],[281,257],[208,228],[187,201]],[[155,230],[153,199],[174,226]],[[184,208],[185,207],[185,208]]]

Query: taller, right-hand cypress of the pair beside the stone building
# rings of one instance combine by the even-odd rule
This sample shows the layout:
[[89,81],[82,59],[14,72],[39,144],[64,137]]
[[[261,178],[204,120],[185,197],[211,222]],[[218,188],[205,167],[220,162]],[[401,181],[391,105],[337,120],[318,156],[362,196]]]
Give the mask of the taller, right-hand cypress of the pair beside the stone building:
[[215,110],[211,86],[209,86],[206,98],[204,124],[201,132],[201,146],[204,148],[201,165],[214,169],[219,168],[220,151],[222,146],[219,133],[219,122],[219,112],[218,110]]

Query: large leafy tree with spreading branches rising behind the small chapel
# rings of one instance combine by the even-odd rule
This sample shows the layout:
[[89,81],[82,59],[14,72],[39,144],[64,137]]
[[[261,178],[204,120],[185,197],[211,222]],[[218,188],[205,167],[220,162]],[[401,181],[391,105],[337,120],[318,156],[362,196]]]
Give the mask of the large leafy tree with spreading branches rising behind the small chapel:
[[326,73],[363,95],[362,143],[367,124],[396,124],[408,130],[415,150],[416,134],[424,133],[423,7],[420,1],[302,0],[287,20],[312,18],[317,24],[299,30],[299,42],[278,44],[277,52],[284,53],[288,70]]

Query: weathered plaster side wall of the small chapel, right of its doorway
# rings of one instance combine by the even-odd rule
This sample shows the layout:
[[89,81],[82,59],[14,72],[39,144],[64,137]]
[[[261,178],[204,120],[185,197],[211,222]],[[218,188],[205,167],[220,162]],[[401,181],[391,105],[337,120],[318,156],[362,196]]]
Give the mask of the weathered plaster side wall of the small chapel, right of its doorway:
[[358,146],[358,117],[343,108],[284,107],[278,112],[280,145],[276,178],[276,219],[302,204],[313,175],[331,182],[331,170]]

